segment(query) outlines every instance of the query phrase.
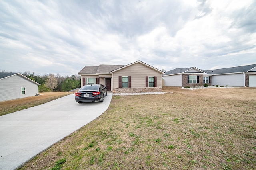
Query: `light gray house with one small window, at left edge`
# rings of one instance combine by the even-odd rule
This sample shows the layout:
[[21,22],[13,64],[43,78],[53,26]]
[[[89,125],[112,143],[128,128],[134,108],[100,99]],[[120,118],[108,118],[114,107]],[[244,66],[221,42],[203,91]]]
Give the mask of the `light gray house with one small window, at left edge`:
[[0,101],[25,98],[39,94],[40,84],[20,73],[0,73]]

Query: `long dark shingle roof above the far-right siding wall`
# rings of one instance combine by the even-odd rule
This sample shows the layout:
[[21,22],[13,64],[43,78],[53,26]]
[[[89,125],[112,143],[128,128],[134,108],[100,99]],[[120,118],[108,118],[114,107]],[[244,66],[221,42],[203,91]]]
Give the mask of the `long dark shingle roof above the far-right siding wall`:
[[256,68],[256,64],[247,65],[247,66],[230,67],[230,68],[220,68],[215,70],[204,70],[204,71],[207,74],[230,74],[230,73],[250,72],[250,70],[254,68]]

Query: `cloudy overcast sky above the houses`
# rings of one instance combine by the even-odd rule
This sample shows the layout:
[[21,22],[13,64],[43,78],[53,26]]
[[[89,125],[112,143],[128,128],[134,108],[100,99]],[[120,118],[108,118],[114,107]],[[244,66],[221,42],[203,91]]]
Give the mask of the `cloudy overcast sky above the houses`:
[[0,72],[256,64],[255,0],[0,0]]

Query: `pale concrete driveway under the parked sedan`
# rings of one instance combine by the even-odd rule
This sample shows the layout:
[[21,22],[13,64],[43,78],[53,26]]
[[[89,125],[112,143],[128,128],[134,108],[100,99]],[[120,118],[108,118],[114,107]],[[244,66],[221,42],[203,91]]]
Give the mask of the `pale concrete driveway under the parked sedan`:
[[100,116],[110,104],[78,104],[74,94],[0,116],[0,169],[16,169],[38,153]]

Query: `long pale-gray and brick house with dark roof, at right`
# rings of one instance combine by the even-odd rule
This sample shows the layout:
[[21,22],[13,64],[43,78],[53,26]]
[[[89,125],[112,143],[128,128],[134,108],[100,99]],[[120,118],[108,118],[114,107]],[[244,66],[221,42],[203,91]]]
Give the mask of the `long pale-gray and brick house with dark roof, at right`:
[[200,70],[196,67],[176,68],[163,75],[164,86],[219,86],[256,87],[256,64]]

